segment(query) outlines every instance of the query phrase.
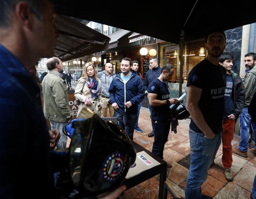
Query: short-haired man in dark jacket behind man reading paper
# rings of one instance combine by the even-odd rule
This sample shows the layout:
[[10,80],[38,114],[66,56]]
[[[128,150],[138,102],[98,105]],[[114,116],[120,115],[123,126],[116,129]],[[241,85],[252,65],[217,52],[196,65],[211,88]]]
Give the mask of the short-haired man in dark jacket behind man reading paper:
[[[157,57],[151,57],[149,59],[149,66],[152,70],[149,70],[146,73],[145,79],[144,79],[144,90],[145,90],[145,94],[146,96],[148,96],[148,85],[155,80],[156,78],[158,78],[161,75],[161,68],[160,66],[158,66],[158,59]],[[151,124],[152,124],[152,129],[153,131],[148,134],[148,137],[153,137],[154,136],[154,131],[155,131],[155,127],[154,127],[154,123],[153,123],[153,119],[152,119],[152,111],[151,111],[151,106],[148,105],[149,111],[150,111],[150,118],[151,118]]]

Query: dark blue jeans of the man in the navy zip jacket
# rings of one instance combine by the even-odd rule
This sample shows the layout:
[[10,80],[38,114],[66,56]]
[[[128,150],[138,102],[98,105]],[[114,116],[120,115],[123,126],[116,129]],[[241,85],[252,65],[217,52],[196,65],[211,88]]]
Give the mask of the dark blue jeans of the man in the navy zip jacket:
[[[128,125],[129,134],[128,134],[128,136],[131,140],[133,140],[134,125],[135,125],[135,122],[136,122],[137,115],[135,113],[135,114],[126,114],[126,116],[129,120],[129,125]],[[115,111],[114,117],[118,117],[118,126],[120,126],[121,128],[124,129],[123,114],[118,113],[118,112]]]

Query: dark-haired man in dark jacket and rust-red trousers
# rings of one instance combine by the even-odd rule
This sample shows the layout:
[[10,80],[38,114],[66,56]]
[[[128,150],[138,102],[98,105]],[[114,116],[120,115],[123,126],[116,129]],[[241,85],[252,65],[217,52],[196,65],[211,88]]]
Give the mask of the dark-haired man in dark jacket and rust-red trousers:
[[220,56],[220,65],[226,69],[226,88],[225,88],[225,110],[223,115],[223,131],[222,131],[222,164],[225,169],[225,178],[233,181],[231,172],[232,166],[232,145],[235,122],[243,110],[244,106],[244,84],[241,77],[231,70],[233,66],[234,56],[229,52],[223,52]]

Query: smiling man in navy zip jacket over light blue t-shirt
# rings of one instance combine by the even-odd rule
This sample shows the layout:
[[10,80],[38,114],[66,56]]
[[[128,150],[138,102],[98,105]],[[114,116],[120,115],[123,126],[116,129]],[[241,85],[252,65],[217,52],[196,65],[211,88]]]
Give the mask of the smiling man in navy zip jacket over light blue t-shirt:
[[117,73],[109,87],[109,103],[115,111],[114,117],[118,117],[119,126],[124,129],[124,113],[129,120],[128,136],[133,140],[134,125],[137,119],[138,104],[144,98],[144,88],[140,77],[130,71],[132,60],[124,58],[121,61],[121,72]]

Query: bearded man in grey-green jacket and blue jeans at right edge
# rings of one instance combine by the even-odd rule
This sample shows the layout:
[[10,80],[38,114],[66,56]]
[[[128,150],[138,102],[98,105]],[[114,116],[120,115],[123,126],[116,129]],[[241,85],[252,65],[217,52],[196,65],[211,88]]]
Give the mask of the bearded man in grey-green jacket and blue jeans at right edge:
[[[252,124],[253,133],[256,133],[256,126],[253,123],[250,114],[248,113],[248,107],[251,103],[252,97],[256,92],[256,53],[250,52],[244,56],[245,67],[249,69],[247,74],[244,77],[244,87],[245,87],[245,101],[244,108],[239,116],[239,126],[241,139],[239,142],[238,148],[233,149],[233,153],[242,156],[247,156],[248,150],[248,141],[249,141],[249,130],[250,124]],[[251,152],[256,155],[255,149],[251,150]]]

